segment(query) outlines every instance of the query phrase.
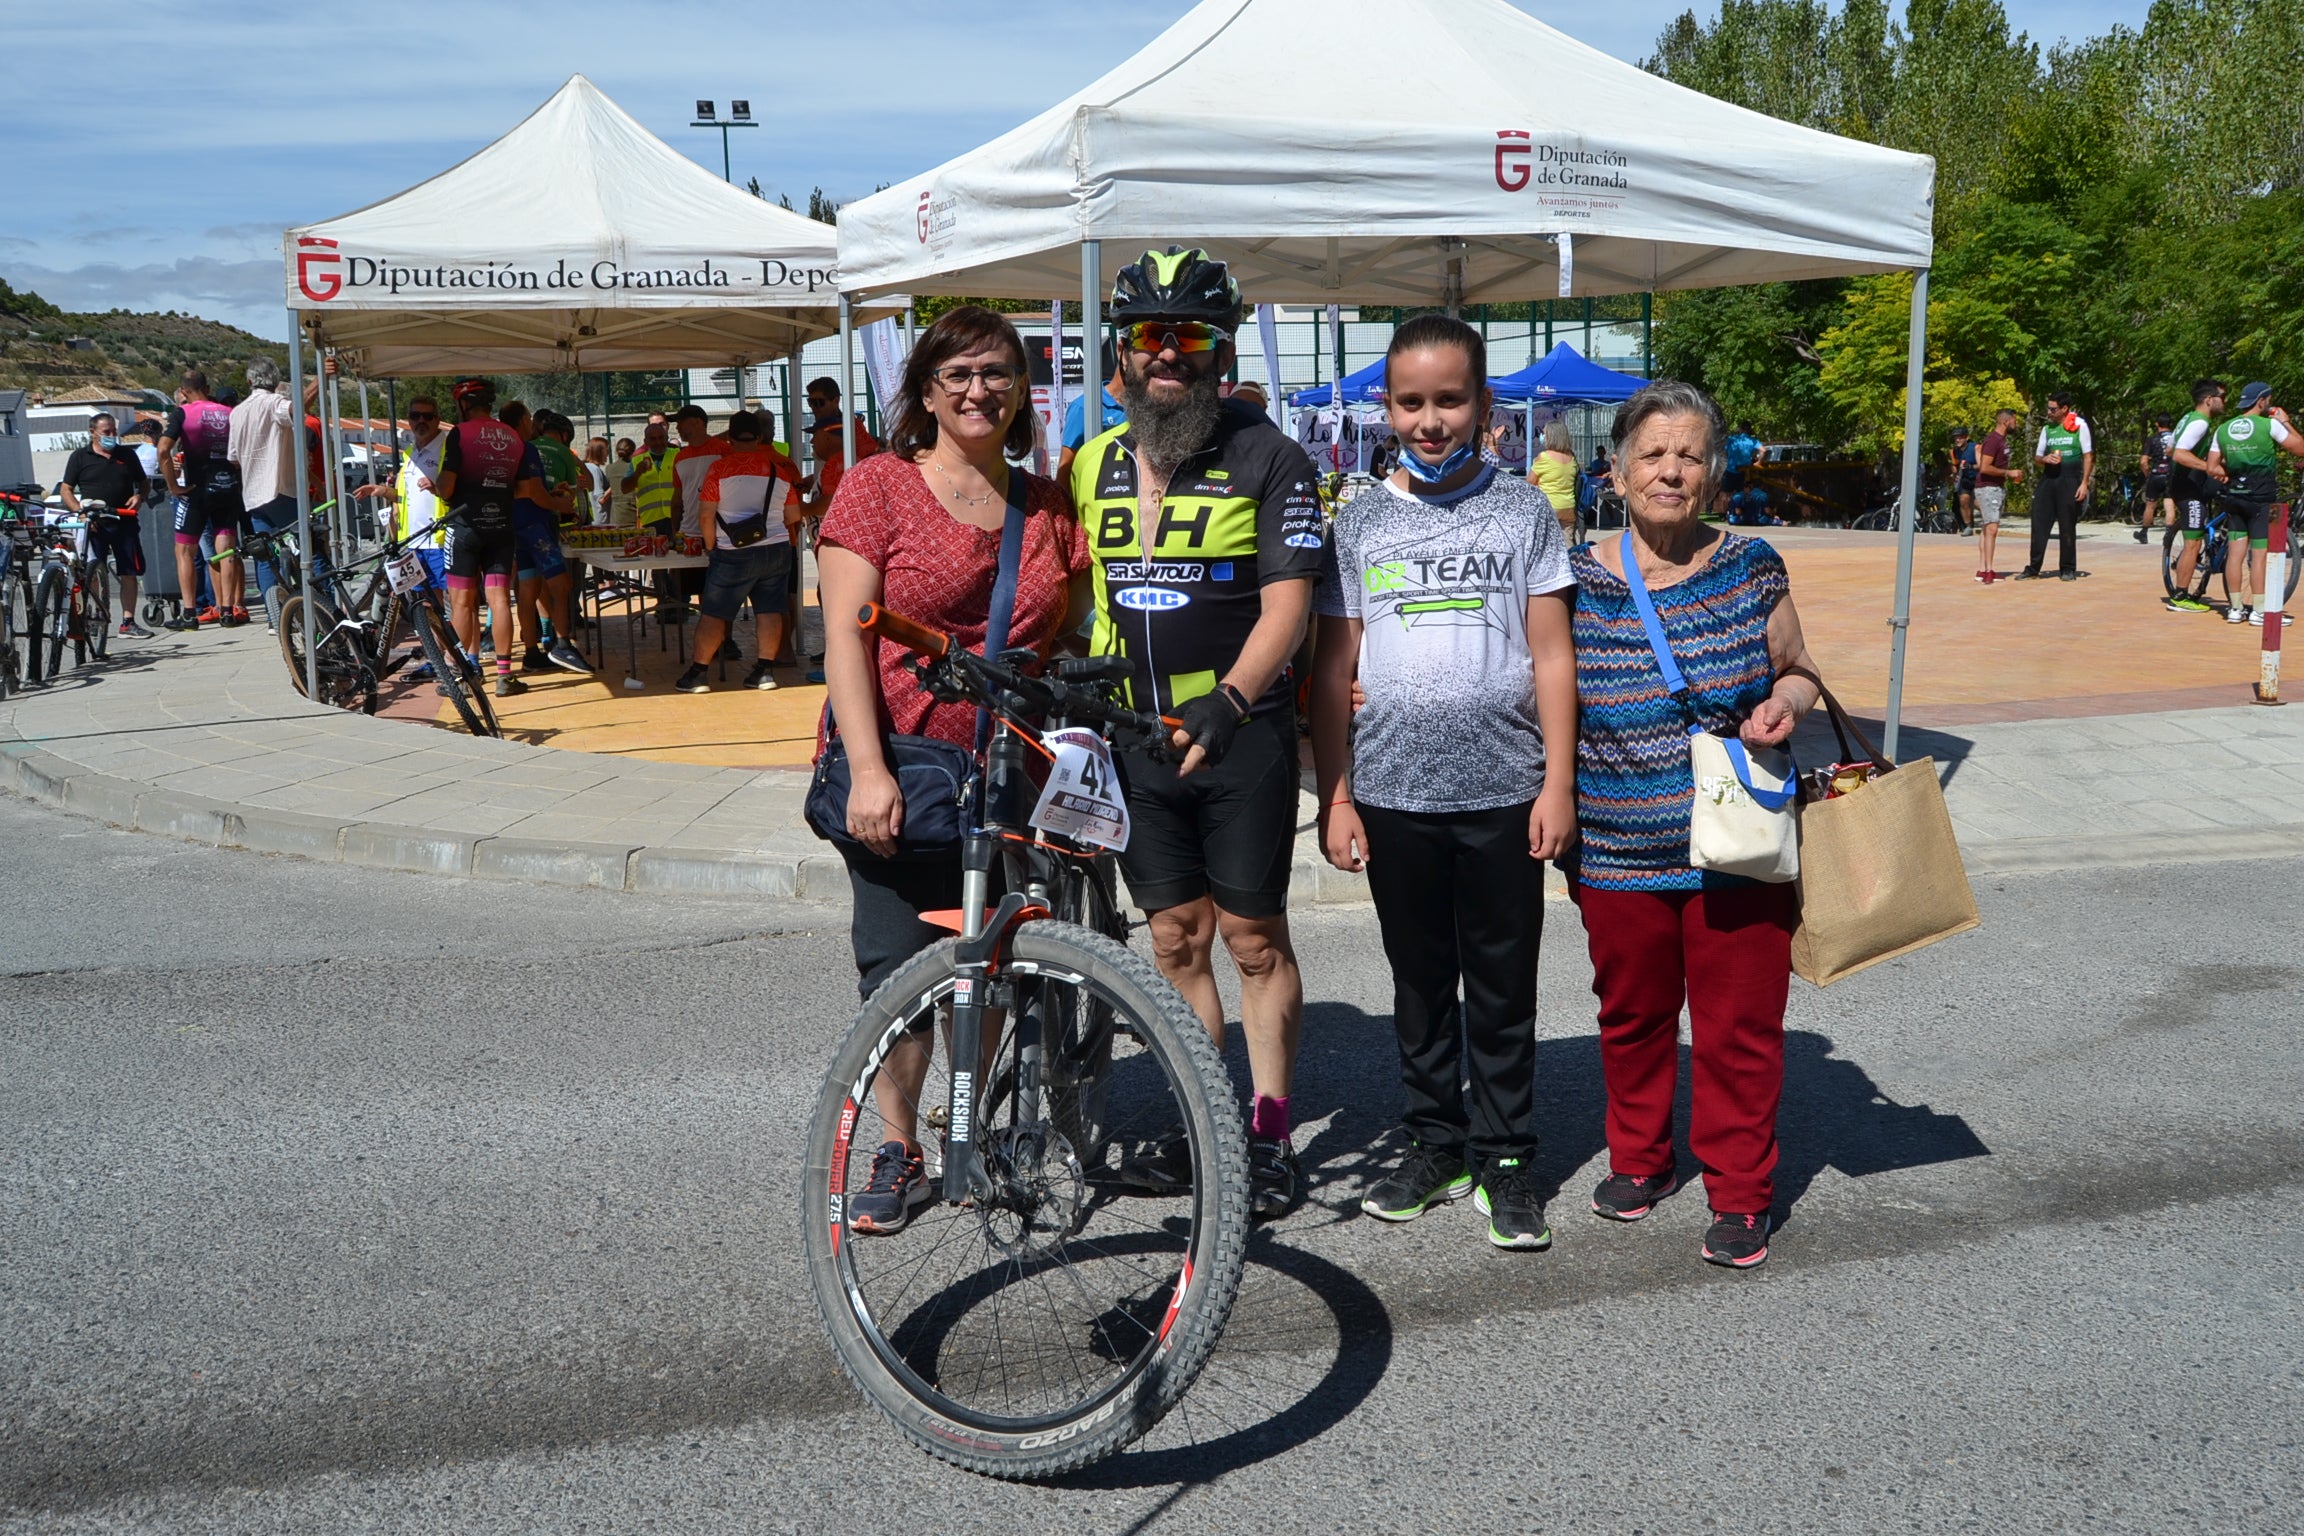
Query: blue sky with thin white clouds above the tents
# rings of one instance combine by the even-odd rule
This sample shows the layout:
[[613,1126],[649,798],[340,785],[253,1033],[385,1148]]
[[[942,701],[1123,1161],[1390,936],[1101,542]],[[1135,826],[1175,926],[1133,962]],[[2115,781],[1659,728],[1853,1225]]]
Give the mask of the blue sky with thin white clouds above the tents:
[[[2002,0],[2039,41],[2143,25],[2150,0]],[[1638,60],[1691,0],[1514,0],[1617,58]],[[1716,12],[1716,0],[1693,0]],[[0,276],[65,309],[182,309],[286,336],[279,233],[392,196],[482,147],[588,74],[634,117],[719,168],[719,136],[689,129],[696,97],[749,97],[763,129],[735,134],[735,180],[806,205],[869,193],[1023,122],[1111,69],[1189,0],[949,0],[876,5],[634,7],[553,0],[399,0],[373,21],[316,25],[309,5],[235,0],[173,16],[122,51],[85,5],[14,0],[18,81],[51,92],[12,124]],[[634,16],[698,16],[650,21]],[[336,9],[336,18],[362,12]],[[740,21],[751,16],[751,21]],[[1412,46],[1412,39],[1399,39]],[[1355,39],[1352,46],[1385,46]],[[1276,69],[1318,67],[1276,60]],[[1348,104],[1339,104],[1348,106]]]

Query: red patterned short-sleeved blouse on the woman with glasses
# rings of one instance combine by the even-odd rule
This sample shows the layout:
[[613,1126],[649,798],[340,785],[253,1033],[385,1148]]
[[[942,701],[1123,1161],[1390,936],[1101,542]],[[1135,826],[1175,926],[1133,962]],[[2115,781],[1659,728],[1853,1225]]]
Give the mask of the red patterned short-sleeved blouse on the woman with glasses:
[[[1087,569],[1087,539],[1062,486],[1023,470],[1011,474],[1023,474],[1025,525],[1009,645],[1046,654],[1064,622],[1071,576]],[[1000,573],[1000,530],[972,527],[945,511],[919,465],[896,454],[862,461],[841,477],[820,539],[880,571],[882,606],[942,629],[972,652],[984,649],[993,578]],[[938,705],[922,693],[905,668],[910,652],[901,645],[880,640],[876,652],[880,721],[889,730],[975,746],[975,705]]]

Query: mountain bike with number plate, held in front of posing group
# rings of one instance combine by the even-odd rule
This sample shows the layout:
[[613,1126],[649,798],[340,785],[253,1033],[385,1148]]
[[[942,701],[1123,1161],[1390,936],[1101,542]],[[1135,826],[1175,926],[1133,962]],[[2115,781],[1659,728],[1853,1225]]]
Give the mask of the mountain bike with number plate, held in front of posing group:
[[[1117,937],[1097,843],[1115,827],[1124,841],[1124,820],[1081,820],[1122,804],[1104,744],[1164,748],[1168,725],[1122,709],[1099,677],[1028,677],[1030,652],[988,661],[878,606],[859,624],[912,649],[922,686],[986,709],[993,730],[954,785],[972,827],[961,910],[931,914],[958,933],[871,995],[811,1115],[809,1285],[841,1368],[912,1444],[970,1472],[1046,1478],[1113,1455],[1175,1407],[1246,1257],[1230,1078],[1182,995]],[[1028,716],[1071,725],[1041,735]],[[1037,799],[1034,755],[1051,762]],[[864,1234],[850,1200],[876,1147],[903,1140],[882,1105],[917,1124],[929,1202],[901,1232]],[[1117,1156],[1177,1128],[1191,1188],[1150,1202],[1120,1181]]]

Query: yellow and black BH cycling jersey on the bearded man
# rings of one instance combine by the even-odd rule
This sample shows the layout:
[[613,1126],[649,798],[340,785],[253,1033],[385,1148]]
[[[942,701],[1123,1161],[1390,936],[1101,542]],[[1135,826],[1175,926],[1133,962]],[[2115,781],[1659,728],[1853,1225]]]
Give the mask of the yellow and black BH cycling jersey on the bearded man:
[[[1327,527],[1311,458],[1251,405],[1223,403],[1214,442],[1168,479],[1150,537],[1134,447],[1115,426],[1071,461],[1071,504],[1094,560],[1090,652],[1129,659],[1131,709],[1173,714],[1240,659],[1267,583],[1318,578]],[[1283,670],[1256,714],[1290,705],[1293,686]]]

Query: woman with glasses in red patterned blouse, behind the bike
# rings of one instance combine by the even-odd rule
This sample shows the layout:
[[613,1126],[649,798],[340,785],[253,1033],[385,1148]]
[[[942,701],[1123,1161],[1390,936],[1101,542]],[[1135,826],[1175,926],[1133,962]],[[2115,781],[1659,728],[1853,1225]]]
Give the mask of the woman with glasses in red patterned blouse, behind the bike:
[[[864,997],[945,935],[922,912],[961,905],[961,850],[901,852],[905,804],[885,737],[940,737],[975,748],[975,705],[940,705],[905,668],[908,652],[855,626],[864,603],[919,619],[982,652],[991,626],[1000,534],[1014,495],[1025,509],[1007,645],[1046,654],[1087,615],[1087,546],[1055,481],[1014,461],[1037,447],[1023,339],[1002,315],[963,304],[912,348],[887,451],[841,477],[818,534],[825,677],[848,753],[848,834],[839,843],[855,894],[850,944]],[[862,845],[862,847],[859,847]],[[912,1101],[929,1043],[905,1041],[873,1078],[889,1128],[869,1186],[850,1197],[857,1232],[899,1232],[929,1197]]]

